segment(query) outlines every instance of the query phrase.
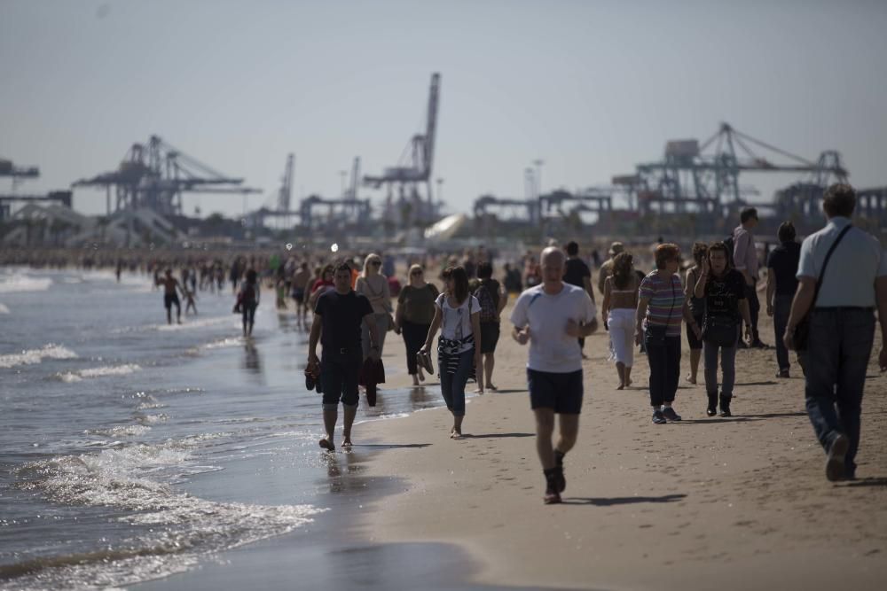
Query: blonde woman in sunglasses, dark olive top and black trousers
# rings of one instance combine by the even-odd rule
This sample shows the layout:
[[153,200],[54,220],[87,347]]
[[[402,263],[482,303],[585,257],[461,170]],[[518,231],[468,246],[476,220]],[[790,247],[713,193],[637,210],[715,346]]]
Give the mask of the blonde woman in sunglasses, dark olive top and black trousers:
[[422,367],[416,362],[416,354],[435,318],[435,299],[438,295],[434,284],[425,283],[425,271],[419,265],[412,265],[409,282],[397,296],[394,320],[395,332],[404,336],[406,368],[412,376],[412,385],[425,381]]

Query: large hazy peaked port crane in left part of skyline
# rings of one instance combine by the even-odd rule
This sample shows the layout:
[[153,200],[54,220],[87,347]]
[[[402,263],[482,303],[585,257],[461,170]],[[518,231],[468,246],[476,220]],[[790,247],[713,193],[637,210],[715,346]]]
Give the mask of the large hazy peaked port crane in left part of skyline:
[[151,209],[162,215],[182,214],[182,194],[188,193],[259,193],[241,186],[242,178],[217,172],[164,142],[151,136],[147,144],[132,144],[120,167],[87,179],[72,187],[98,187],[106,190],[106,209],[114,211]]

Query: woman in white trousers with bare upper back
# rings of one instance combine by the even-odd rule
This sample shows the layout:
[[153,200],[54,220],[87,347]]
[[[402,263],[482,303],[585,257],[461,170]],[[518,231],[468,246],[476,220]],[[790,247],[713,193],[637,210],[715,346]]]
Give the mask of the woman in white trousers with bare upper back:
[[633,258],[629,253],[618,253],[613,259],[611,276],[604,280],[604,300],[600,305],[600,317],[610,333],[613,359],[619,374],[619,387],[624,390],[632,385],[634,365],[634,323],[638,307],[638,284],[634,273]]

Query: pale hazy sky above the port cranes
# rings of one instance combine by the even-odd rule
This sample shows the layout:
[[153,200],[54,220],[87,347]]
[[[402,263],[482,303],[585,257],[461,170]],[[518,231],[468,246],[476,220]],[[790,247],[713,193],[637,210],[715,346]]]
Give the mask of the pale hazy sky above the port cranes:
[[[263,190],[186,195],[186,214],[273,204],[289,152],[294,200],[338,197],[355,156],[396,164],[439,72],[451,212],[522,198],[535,159],[543,191],[608,184],[721,121],[887,185],[884,30],[881,0],[0,0],[0,158],[40,167],[18,191],[51,191],[156,134]],[[795,180],[741,177],[765,200]],[[74,205],[104,213],[104,192]]]

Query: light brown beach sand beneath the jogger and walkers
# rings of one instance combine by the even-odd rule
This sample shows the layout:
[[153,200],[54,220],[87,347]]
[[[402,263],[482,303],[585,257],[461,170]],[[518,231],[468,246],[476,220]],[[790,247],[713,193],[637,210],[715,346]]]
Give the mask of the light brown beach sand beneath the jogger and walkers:
[[[858,477],[833,484],[804,411],[797,364],[774,376],[771,350],[737,354],[732,418],[705,415],[705,389],[684,379],[679,424],[650,424],[648,365],[617,391],[604,330],[587,339],[585,402],[567,455],[562,505],[544,506],[526,392],[527,349],[503,314],[494,383],[470,400],[448,439],[445,408],[359,425],[356,440],[392,446],[366,463],[400,489],[363,512],[373,543],[438,542],[476,563],[472,584],[594,589],[883,589],[887,584],[887,400],[876,339],[863,402]],[[761,334],[773,344],[769,318]],[[391,335],[389,335],[391,337]],[[683,337],[682,337],[683,339]],[[400,338],[386,362],[404,363]],[[794,355],[792,355],[794,360]],[[404,373],[387,388],[408,385]],[[473,387],[473,385],[469,385]],[[436,379],[427,393],[439,395]],[[422,447],[396,447],[422,444]]]

